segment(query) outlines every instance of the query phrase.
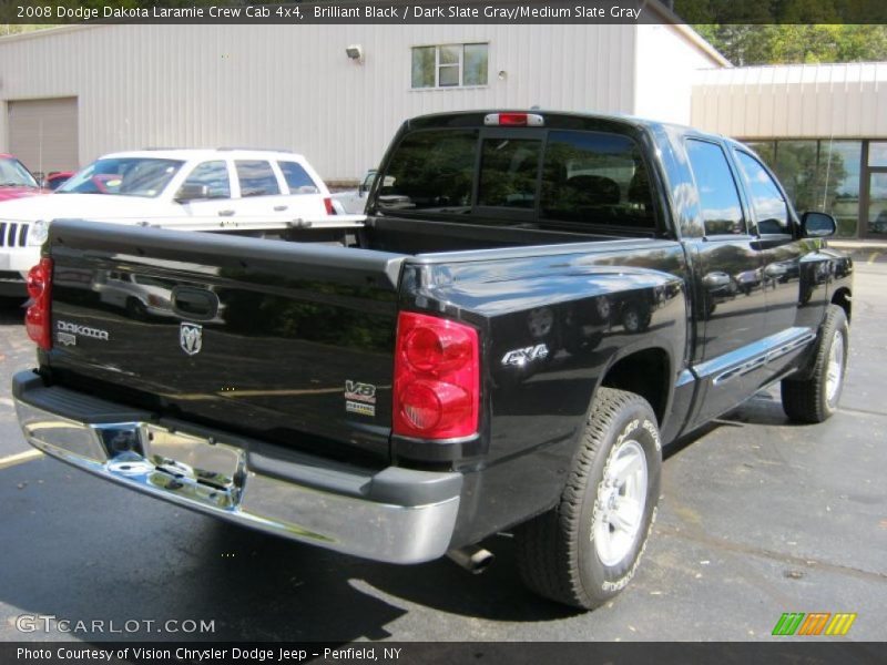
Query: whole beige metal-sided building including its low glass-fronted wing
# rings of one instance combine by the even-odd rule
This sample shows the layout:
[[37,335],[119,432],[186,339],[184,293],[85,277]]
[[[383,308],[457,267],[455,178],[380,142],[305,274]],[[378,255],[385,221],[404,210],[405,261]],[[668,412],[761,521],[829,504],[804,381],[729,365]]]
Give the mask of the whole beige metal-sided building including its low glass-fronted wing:
[[407,117],[628,113],[748,141],[796,207],[887,238],[887,63],[734,69],[671,24],[72,25],[0,38],[0,152],[33,171],[140,147],[304,153],[330,184]]

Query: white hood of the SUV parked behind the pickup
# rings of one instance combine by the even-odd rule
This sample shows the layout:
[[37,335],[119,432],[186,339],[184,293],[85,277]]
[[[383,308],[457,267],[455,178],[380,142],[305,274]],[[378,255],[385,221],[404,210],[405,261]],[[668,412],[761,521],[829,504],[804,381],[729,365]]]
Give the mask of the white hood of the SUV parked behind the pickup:
[[38,219],[144,219],[169,215],[169,206],[154,198],[108,194],[49,194],[0,204],[0,218]]

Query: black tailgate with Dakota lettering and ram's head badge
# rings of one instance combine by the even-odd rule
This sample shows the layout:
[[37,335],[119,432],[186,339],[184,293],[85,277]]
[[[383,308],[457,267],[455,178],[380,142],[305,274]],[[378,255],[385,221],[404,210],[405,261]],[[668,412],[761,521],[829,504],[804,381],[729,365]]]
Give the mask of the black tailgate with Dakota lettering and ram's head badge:
[[55,380],[296,449],[387,460],[402,255],[53,222]]

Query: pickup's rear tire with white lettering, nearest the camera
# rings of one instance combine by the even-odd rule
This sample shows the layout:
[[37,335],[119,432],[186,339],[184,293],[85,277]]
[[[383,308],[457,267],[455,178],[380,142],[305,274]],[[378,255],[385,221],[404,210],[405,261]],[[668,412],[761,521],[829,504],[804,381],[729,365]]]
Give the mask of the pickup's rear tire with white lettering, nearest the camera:
[[[560,502],[517,529],[518,569],[530,590],[558,603],[593,610],[624,589],[634,576],[655,520],[661,448],[656,418],[646,400],[623,390],[598,390]],[[641,518],[633,538],[623,539],[628,545],[624,555],[605,563],[594,542],[598,529],[610,533],[604,515],[613,505],[612,491],[604,478],[625,450],[636,458],[639,451],[643,453],[644,505],[638,511]]]

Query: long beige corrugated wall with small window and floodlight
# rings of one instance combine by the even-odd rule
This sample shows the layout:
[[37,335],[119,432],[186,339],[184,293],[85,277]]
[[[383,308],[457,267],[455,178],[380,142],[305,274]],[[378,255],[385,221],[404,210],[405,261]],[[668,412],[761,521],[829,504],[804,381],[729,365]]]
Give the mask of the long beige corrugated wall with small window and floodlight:
[[[636,112],[635,39],[633,25],[62,28],[0,39],[0,105],[77,96],[81,165],[145,146],[285,147],[335,181],[376,165],[421,113]],[[410,90],[410,47],[478,41],[490,43],[488,85]],[[351,43],[364,64],[346,58]]]

